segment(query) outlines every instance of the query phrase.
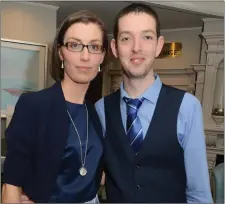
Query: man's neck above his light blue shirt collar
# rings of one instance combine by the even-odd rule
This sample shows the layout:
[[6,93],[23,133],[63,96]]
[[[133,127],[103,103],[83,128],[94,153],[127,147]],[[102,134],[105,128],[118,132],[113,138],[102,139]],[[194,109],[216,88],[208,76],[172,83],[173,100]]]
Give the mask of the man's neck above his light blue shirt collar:
[[146,76],[145,78],[127,78],[124,76],[123,85],[124,90],[131,98],[138,98],[143,94],[155,81],[154,74]]

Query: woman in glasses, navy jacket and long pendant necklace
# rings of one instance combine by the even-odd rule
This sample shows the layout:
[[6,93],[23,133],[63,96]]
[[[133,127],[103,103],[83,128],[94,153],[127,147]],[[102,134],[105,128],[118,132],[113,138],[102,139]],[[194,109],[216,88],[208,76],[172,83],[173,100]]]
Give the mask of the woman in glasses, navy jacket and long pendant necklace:
[[95,202],[102,175],[102,129],[85,101],[107,50],[103,23],[80,11],[62,23],[54,40],[56,83],[19,98],[6,131],[2,201]]

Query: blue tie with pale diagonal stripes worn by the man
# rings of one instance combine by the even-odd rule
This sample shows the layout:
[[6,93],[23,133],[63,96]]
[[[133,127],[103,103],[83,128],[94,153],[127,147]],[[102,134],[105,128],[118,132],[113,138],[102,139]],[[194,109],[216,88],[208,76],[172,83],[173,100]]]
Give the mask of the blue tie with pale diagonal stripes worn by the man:
[[144,98],[130,99],[123,97],[123,99],[127,103],[127,136],[134,152],[137,153],[144,139],[141,121],[137,116],[137,111],[144,101]]

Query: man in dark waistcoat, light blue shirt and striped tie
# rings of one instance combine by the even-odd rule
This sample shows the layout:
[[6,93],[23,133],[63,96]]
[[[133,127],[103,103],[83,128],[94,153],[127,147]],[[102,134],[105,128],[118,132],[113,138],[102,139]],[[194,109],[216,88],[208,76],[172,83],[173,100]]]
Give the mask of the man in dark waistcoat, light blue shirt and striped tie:
[[149,6],[116,18],[120,89],[96,103],[105,132],[108,202],[212,203],[201,104],[153,72],[164,39]]

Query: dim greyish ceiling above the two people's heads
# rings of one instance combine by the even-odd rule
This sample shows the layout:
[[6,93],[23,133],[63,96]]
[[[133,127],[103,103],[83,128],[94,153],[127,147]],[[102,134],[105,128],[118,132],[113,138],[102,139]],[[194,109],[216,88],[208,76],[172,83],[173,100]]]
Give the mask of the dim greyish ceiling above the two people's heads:
[[[131,2],[131,1],[130,1]],[[127,1],[43,1],[39,3],[58,6],[57,25],[69,14],[81,10],[88,9],[96,13],[103,21],[105,21],[108,33],[112,33],[113,22],[116,14],[130,2]],[[203,18],[215,17],[209,14],[185,11],[178,8],[166,7],[145,2],[151,5],[159,15],[161,29],[190,28],[202,27]]]

